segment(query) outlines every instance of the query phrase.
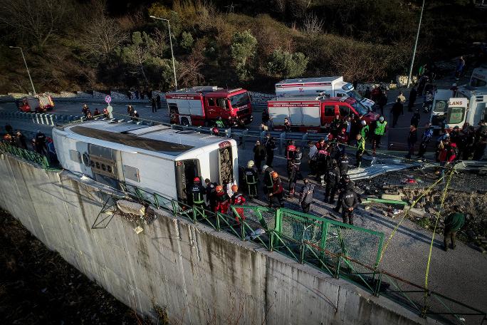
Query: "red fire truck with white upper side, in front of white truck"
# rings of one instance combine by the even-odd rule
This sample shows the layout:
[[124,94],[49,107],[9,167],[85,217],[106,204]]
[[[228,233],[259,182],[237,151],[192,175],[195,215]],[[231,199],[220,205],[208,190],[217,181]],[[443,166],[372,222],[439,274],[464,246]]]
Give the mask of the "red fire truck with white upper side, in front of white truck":
[[357,115],[367,124],[379,118],[378,114],[348,96],[276,97],[267,102],[267,109],[274,130],[283,130],[284,118],[288,118],[291,130],[310,133],[326,132],[336,115],[342,118]]

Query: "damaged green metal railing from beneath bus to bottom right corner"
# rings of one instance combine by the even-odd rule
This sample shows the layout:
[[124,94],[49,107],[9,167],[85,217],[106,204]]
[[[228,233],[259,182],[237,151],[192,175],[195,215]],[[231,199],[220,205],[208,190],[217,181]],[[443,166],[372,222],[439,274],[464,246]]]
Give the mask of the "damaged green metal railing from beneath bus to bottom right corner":
[[[346,279],[422,317],[429,316],[445,324],[483,324],[487,320],[486,312],[378,269],[384,237],[381,232],[283,208],[232,205],[230,215],[192,207],[135,185],[122,184],[122,190],[142,204],[217,231],[224,230],[337,279]],[[367,244],[373,248],[367,249]]]

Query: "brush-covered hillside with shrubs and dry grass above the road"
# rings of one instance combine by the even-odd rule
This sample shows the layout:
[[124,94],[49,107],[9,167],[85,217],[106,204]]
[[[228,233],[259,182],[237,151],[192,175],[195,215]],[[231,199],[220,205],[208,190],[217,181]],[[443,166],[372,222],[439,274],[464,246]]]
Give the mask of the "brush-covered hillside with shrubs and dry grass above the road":
[[[417,65],[471,53],[486,11],[427,1]],[[421,1],[0,0],[0,93],[218,84],[269,90],[280,78],[379,81],[409,67]],[[475,63],[471,63],[475,64]]]

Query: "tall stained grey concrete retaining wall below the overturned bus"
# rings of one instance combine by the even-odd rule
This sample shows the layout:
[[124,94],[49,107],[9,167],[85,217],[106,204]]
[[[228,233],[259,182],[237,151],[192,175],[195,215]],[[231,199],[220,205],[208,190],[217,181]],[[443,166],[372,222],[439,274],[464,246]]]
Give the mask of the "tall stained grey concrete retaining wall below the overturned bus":
[[159,211],[135,234],[115,216],[91,229],[106,195],[69,172],[0,155],[0,205],[50,249],[142,314],[171,324],[433,324],[311,267]]

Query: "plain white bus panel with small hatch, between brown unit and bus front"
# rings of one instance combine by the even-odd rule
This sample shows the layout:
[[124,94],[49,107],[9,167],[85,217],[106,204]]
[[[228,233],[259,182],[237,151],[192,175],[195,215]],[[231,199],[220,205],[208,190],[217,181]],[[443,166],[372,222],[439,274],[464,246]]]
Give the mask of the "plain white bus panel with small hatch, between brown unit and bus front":
[[177,199],[174,160],[127,152],[121,158],[125,183]]

